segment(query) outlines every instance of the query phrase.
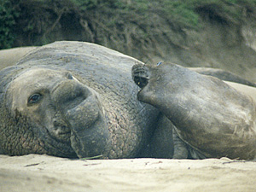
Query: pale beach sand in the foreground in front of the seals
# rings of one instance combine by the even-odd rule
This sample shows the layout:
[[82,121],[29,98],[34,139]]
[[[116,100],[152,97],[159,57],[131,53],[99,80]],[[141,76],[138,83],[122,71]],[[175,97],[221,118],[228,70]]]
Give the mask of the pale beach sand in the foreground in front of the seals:
[[256,162],[0,155],[0,191],[256,191]]

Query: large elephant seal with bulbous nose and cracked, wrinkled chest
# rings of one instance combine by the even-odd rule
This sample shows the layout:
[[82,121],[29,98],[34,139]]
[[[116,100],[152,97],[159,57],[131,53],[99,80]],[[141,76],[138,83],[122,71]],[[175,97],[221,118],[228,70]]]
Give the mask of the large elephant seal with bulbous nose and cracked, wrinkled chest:
[[0,154],[135,157],[159,110],[137,101],[130,56],[57,42],[0,72]]

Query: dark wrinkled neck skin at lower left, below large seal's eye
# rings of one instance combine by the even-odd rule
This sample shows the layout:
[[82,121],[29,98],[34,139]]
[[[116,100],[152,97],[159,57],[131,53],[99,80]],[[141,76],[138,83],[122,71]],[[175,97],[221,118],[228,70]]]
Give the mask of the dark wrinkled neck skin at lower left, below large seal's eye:
[[[5,126],[1,127],[3,136],[0,143],[1,154],[49,154],[67,158],[78,157],[70,143],[61,143],[50,137],[45,137],[48,134],[45,127],[38,127],[32,123],[32,120],[18,112],[15,117],[9,112],[5,114],[9,114],[9,122],[5,122],[2,124]],[[1,115],[1,117],[3,116]]]

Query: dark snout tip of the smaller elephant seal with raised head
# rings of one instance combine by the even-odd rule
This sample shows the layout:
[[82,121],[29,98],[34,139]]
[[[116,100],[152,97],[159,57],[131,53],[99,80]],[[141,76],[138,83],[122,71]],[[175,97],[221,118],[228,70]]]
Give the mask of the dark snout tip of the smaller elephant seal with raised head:
[[131,68],[131,76],[135,84],[140,88],[145,87],[148,84],[149,70],[143,64],[136,64]]

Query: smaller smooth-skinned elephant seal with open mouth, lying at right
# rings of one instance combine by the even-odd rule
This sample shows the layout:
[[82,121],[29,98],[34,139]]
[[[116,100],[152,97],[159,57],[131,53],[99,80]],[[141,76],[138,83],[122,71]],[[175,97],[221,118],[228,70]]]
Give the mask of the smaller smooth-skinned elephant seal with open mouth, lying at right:
[[142,88],[138,100],[159,108],[175,125],[178,137],[199,154],[255,158],[256,102],[245,94],[256,96],[255,88],[247,91],[246,85],[225,83],[174,64],[137,64],[132,77]]

